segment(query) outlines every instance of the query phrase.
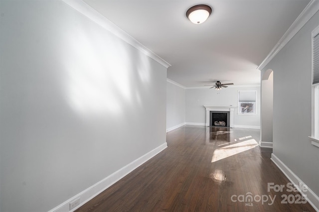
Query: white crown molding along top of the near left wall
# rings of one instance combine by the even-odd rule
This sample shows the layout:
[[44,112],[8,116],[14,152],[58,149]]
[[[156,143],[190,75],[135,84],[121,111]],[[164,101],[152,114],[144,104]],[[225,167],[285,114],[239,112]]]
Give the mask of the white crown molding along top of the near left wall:
[[101,13],[93,9],[89,4],[85,3],[82,0],[62,0],[69,6],[71,6],[73,9],[77,10],[84,16],[88,17],[104,29],[110,31],[115,36],[119,37],[120,39],[124,40],[128,44],[132,45],[136,49],[143,52],[145,55],[149,56],[156,62],[160,63],[160,65],[164,66],[165,68],[168,68],[171,66],[169,63],[167,63],[165,60],[160,58],[157,54],[152,52],[150,49],[148,49],[146,46],[141,44],[139,41],[134,39],[131,35],[123,31],[121,28],[119,28],[117,25],[115,25],[113,22],[111,22],[109,19],[107,19],[105,16],[103,16]]

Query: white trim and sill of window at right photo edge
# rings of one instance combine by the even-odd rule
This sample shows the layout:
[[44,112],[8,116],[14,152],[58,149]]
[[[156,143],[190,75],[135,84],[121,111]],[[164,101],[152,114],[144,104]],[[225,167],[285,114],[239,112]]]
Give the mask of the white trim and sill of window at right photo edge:
[[[311,35],[311,42],[312,42],[312,72],[313,72],[313,58],[314,58],[314,44],[313,44],[313,38],[315,35],[319,33],[319,26],[317,26],[313,31]],[[313,74],[312,74],[313,75]],[[312,76],[312,81],[313,83],[313,76]],[[319,84],[312,85],[312,130],[311,130],[311,136],[309,138],[312,140],[311,143],[314,146],[319,147]]]

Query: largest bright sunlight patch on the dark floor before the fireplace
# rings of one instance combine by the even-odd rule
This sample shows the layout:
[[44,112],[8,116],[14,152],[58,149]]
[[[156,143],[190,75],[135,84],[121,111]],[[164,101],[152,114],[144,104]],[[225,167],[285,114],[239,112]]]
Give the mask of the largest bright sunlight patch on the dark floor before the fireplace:
[[[249,137],[249,136],[246,136],[246,137]],[[221,159],[236,155],[238,153],[255,148],[256,146],[258,146],[257,141],[255,139],[250,139],[250,140],[242,141],[239,143],[231,144],[229,146],[221,147],[214,151],[211,162],[213,163]]]

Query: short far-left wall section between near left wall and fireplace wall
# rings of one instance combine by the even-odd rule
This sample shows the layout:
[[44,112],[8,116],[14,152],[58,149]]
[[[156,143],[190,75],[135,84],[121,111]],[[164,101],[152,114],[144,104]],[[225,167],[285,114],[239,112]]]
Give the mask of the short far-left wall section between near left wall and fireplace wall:
[[166,83],[166,131],[185,124],[185,89]]

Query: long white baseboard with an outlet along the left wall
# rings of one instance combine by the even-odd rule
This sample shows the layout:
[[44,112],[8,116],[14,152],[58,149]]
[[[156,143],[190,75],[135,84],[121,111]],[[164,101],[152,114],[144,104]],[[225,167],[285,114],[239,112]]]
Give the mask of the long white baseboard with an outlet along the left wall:
[[[123,177],[128,175],[134,169],[141,166],[146,161],[150,160],[152,157],[160,153],[167,147],[167,143],[163,143],[159,147],[153,149],[152,151],[146,153],[142,157],[136,159],[135,161],[131,162],[130,164],[124,166],[123,168],[119,169],[118,171],[114,172],[113,174],[109,175],[108,177],[104,178],[100,182],[97,182],[93,186],[87,188],[86,190],[80,192],[79,194],[75,195],[74,197],[70,198],[69,200],[65,201],[64,203],[60,204],[59,206],[55,207],[54,209],[50,210],[49,212],[74,212],[85,203],[92,200],[94,197],[99,195],[101,192],[112,186],[117,181],[121,180]],[[70,203],[80,199],[80,204],[76,208],[69,210]]]

